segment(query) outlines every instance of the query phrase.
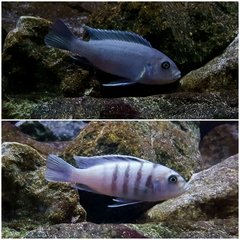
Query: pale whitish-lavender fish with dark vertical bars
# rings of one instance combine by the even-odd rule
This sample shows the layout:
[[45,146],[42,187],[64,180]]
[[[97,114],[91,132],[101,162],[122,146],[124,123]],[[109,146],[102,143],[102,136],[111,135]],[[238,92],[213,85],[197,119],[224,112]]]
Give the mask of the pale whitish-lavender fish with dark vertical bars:
[[50,154],[45,179],[68,182],[76,189],[113,197],[108,207],[159,202],[187,189],[186,180],[161,164],[127,155],[74,156],[76,166]]

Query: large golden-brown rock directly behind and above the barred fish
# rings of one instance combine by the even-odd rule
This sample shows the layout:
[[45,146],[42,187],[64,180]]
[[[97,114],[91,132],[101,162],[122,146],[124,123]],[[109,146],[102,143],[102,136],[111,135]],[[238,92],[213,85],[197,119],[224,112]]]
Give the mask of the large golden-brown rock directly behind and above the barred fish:
[[131,155],[163,164],[190,178],[200,166],[198,142],[197,123],[91,122],[63,155],[68,158],[73,155]]

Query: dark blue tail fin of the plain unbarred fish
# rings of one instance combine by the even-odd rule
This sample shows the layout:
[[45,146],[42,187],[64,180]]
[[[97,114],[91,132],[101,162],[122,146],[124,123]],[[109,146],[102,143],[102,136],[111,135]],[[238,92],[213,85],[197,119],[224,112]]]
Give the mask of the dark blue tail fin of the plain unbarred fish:
[[65,25],[65,23],[58,19],[54,22],[51,30],[45,36],[45,44],[71,51],[72,42],[76,39],[73,33]]

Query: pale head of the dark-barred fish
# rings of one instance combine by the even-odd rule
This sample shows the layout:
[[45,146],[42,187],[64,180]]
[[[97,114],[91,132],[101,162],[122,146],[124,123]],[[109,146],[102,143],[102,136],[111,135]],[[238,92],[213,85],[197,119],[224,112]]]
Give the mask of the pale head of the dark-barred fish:
[[177,172],[166,168],[154,179],[154,192],[159,201],[177,197],[187,190],[186,180]]

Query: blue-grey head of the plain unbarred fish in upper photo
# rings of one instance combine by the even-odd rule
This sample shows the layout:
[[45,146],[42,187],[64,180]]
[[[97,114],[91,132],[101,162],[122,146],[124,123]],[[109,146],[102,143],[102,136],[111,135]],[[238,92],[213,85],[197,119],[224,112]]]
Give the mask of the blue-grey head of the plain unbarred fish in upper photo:
[[145,66],[144,78],[139,82],[152,85],[163,85],[177,81],[181,72],[177,65],[167,56],[153,58]]

